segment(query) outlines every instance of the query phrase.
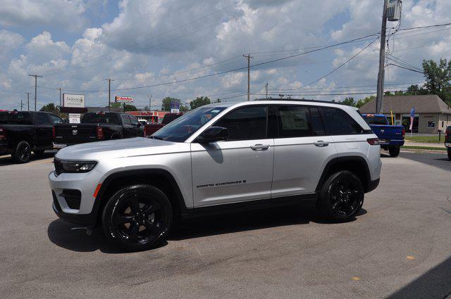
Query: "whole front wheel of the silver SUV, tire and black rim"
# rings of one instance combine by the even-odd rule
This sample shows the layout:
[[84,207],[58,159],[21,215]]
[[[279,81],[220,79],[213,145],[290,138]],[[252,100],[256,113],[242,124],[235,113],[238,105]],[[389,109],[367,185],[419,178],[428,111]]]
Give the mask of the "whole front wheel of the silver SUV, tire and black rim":
[[158,246],[166,240],[172,221],[167,196],[147,184],[127,186],[116,192],[101,217],[106,238],[127,251]]

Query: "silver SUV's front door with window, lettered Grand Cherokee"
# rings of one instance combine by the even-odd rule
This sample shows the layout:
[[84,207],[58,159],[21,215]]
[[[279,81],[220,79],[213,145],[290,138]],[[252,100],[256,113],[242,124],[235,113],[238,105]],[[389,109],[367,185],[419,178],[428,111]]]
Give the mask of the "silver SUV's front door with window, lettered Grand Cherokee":
[[274,143],[267,115],[266,105],[237,108],[214,124],[228,129],[228,141],[192,143],[194,206],[271,197]]

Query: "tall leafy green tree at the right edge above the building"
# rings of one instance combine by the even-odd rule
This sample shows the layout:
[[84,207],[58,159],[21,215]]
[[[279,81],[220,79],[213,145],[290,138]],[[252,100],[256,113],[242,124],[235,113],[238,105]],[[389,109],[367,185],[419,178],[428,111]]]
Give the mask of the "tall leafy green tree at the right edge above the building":
[[423,61],[424,88],[431,94],[437,94],[443,101],[451,102],[451,61],[440,58],[437,64],[433,60]]

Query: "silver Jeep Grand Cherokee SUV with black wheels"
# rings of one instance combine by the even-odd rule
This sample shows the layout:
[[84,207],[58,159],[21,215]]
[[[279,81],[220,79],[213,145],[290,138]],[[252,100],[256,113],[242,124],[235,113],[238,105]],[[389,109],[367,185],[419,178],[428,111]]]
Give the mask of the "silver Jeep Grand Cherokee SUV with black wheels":
[[63,148],[49,182],[56,215],[142,250],[163,241],[175,217],[315,201],[329,220],[350,220],[378,186],[379,151],[352,107],[217,103],[149,138]]

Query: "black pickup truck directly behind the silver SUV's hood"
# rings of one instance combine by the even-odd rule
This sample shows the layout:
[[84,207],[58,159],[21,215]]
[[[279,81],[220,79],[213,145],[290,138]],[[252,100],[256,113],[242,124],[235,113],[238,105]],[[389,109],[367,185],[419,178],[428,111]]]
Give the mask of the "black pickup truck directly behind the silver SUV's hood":
[[92,141],[143,136],[142,125],[135,116],[116,112],[85,113],[80,124],[55,125],[54,148]]

